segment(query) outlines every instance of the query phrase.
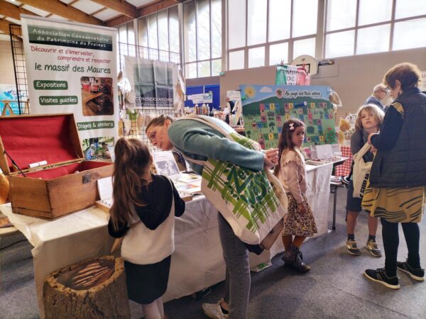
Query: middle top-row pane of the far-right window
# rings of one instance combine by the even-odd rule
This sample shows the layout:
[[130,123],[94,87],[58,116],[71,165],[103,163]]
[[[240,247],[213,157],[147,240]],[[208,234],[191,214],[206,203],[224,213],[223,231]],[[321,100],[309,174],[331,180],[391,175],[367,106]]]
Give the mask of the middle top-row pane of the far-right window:
[[390,21],[392,16],[392,0],[359,0],[359,26]]

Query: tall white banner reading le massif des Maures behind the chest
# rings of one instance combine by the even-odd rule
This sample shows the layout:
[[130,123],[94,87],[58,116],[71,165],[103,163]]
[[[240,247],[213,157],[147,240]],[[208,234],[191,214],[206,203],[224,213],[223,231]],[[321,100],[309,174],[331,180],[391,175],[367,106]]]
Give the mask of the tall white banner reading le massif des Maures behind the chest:
[[74,113],[86,158],[102,158],[119,135],[116,29],[25,15],[21,22],[31,113]]

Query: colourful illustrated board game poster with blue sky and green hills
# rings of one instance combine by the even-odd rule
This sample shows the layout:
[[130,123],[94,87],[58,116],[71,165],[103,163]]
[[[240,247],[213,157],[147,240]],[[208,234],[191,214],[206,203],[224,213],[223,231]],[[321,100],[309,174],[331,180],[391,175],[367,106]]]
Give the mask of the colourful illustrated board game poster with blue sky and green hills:
[[244,129],[263,149],[277,147],[283,123],[305,123],[304,146],[334,144],[337,140],[329,86],[241,85]]

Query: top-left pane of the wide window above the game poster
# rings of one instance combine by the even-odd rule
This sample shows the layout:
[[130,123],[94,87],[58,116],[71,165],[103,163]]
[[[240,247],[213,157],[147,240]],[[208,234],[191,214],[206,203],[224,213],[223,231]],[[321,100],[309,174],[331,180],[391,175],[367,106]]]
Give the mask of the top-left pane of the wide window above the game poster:
[[229,49],[246,45],[246,0],[228,1]]

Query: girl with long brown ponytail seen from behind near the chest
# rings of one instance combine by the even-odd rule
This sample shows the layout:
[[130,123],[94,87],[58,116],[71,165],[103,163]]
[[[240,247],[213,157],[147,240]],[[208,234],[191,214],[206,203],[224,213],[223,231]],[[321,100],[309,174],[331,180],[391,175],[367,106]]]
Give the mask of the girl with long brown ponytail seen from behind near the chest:
[[161,296],[175,250],[175,216],[182,216],[185,203],[170,179],[151,174],[152,157],[141,140],[120,138],[114,153],[109,234],[124,236],[121,257],[129,298],[141,303],[145,318],[164,318]]

